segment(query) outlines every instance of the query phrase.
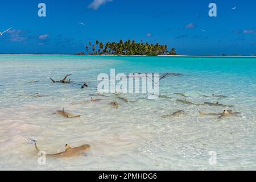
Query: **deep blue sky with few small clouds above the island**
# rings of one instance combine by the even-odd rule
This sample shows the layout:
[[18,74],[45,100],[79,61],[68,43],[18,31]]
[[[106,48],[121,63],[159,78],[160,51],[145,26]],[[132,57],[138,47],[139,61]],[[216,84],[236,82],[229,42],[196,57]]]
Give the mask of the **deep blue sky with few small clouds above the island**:
[[[38,16],[39,3],[46,17]],[[253,0],[9,0],[0,17],[0,32],[11,27],[0,35],[0,53],[73,54],[96,40],[131,39],[186,55],[256,55]]]

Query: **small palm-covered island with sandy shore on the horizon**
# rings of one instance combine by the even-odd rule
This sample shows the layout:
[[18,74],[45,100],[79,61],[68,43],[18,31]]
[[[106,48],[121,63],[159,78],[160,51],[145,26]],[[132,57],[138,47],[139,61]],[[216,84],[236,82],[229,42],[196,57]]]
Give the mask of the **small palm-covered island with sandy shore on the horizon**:
[[[177,55],[176,49],[171,48],[168,51],[167,45],[149,44],[149,43],[136,43],[135,40],[130,39],[126,42],[120,40],[116,42],[107,42],[106,44],[96,40],[95,44],[89,42],[89,45],[85,47],[88,55],[146,55],[146,56],[158,56],[158,55]],[[77,53],[76,55],[85,55],[84,52]]]

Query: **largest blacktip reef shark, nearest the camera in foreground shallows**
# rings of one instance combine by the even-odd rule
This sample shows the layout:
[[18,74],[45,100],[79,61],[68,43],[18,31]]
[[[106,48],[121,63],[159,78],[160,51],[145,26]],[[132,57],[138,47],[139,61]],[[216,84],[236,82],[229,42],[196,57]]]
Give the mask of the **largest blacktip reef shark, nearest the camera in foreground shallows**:
[[[34,144],[35,144],[36,151],[38,151],[38,154],[40,154],[41,150],[38,149],[36,142]],[[72,148],[71,146],[66,144],[65,151],[59,152],[57,154],[46,154],[46,157],[47,158],[71,158],[74,156],[79,156],[79,155],[85,154],[85,152],[88,151],[89,149],[90,149],[89,144],[84,144],[80,147],[74,147],[74,148]]]

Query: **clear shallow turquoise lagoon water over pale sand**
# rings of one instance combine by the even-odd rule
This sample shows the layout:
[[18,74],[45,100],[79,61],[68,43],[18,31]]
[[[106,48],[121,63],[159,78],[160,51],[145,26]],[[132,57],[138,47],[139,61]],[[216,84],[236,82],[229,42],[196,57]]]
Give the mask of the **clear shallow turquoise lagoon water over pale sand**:
[[[160,97],[123,94],[92,103],[97,93],[97,75],[158,72],[182,73],[160,81]],[[49,77],[89,81],[89,88],[75,84],[53,84]],[[59,55],[0,55],[0,169],[70,170],[224,170],[256,169],[256,59],[199,57],[107,57]],[[30,80],[40,80],[32,82]],[[48,97],[32,97],[36,93]],[[176,99],[202,104],[217,102],[236,107],[184,105]],[[212,94],[226,98],[204,97]],[[114,109],[110,102],[121,106]],[[81,114],[68,119],[56,110]],[[200,116],[241,112],[218,119]],[[162,115],[184,110],[181,117]],[[34,145],[49,153],[71,146],[90,144],[87,156],[47,159],[38,164]],[[212,151],[212,153],[211,153]],[[209,153],[210,152],[210,153]],[[216,154],[211,156],[209,154]],[[212,159],[216,163],[209,163]]]

